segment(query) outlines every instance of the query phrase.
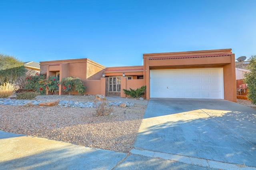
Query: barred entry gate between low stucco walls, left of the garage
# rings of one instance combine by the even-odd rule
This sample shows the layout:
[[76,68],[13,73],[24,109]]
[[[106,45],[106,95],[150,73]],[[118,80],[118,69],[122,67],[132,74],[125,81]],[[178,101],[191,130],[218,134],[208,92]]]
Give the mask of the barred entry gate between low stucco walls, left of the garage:
[[121,77],[106,77],[106,96],[121,96]]

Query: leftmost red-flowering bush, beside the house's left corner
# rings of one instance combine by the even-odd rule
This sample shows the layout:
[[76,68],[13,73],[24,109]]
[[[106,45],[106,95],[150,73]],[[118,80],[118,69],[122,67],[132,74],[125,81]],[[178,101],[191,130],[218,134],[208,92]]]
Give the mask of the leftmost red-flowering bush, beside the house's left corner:
[[26,84],[26,89],[34,89],[36,92],[40,92],[40,95],[46,94],[46,73],[38,74],[35,76],[28,76],[26,80],[28,83]]

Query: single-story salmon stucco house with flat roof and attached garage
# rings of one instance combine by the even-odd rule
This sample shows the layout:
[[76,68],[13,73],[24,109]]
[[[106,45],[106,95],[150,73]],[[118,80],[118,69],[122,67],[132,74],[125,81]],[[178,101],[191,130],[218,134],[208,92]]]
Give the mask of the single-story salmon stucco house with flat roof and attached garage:
[[146,85],[147,100],[205,98],[236,102],[235,55],[231,51],[143,54],[143,66],[105,67],[89,59],[43,61],[40,72],[59,74],[60,80],[77,76],[85,82],[86,94],[126,97],[122,89]]

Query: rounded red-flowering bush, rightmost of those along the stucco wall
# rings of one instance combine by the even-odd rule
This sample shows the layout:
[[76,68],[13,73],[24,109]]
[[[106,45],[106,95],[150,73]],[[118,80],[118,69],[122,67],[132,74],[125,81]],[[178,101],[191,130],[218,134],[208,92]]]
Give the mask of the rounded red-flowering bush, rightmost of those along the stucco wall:
[[69,95],[71,94],[72,90],[77,91],[78,94],[82,95],[86,89],[86,87],[84,86],[84,83],[78,77],[62,78],[60,85],[62,85],[62,90],[64,92],[68,92]]

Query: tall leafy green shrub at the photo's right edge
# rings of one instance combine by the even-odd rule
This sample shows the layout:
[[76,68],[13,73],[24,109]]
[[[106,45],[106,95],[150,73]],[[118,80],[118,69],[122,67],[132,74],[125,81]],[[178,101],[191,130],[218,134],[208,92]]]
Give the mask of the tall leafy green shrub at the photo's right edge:
[[256,55],[250,57],[249,65],[247,69],[250,72],[244,73],[244,82],[247,84],[248,88],[248,99],[252,100],[252,104],[256,104]]

